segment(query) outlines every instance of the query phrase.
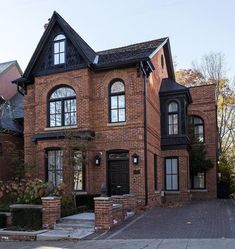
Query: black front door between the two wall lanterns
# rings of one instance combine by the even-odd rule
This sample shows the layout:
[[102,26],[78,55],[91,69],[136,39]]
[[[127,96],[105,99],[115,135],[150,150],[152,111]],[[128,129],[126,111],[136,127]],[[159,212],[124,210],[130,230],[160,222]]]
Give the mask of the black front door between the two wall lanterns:
[[109,159],[108,161],[108,194],[129,194],[129,160]]

